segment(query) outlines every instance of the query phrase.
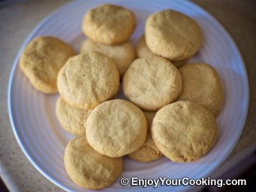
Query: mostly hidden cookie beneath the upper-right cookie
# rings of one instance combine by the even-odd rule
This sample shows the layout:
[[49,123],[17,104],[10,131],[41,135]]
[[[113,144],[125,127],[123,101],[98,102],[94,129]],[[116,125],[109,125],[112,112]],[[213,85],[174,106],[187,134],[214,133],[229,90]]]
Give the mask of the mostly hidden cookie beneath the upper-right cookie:
[[[142,35],[138,42],[138,45],[136,47],[136,54],[138,58],[149,58],[151,56],[156,56],[156,54],[154,54],[148,49],[148,46],[145,42],[145,35]],[[187,60],[171,61],[171,62],[173,63],[173,65],[175,65],[175,67],[180,67],[181,65],[184,65],[186,61]]]

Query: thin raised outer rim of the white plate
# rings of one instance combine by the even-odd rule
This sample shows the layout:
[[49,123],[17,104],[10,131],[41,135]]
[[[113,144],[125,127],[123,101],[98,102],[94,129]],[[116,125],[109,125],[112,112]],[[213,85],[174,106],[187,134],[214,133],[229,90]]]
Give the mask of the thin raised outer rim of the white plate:
[[[87,0],[87,1],[88,2],[89,1],[92,2],[92,0]],[[116,3],[120,3],[120,2],[124,2],[124,1],[125,0],[118,0],[118,1],[116,1]],[[242,134],[243,129],[244,129],[244,124],[245,124],[246,119],[247,119],[248,107],[249,107],[249,102],[250,102],[250,89],[249,89],[248,73],[247,73],[247,70],[246,70],[246,66],[244,65],[243,57],[242,57],[241,52],[239,51],[239,49],[237,47],[236,42],[234,42],[232,36],[230,36],[230,34],[227,32],[227,29],[223,25],[221,25],[221,23],[217,19],[215,19],[215,17],[213,17],[211,15],[211,13],[207,12],[207,10],[205,10],[200,5],[198,5],[198,4],[196,4],[196,3],[192,2],[192,1],[188,1],[188,0],[183,0],[183,1],[185,1],[188,4],[191,4],[192,6],[195,6],[199,10],[202,10],[207,16],[211,17],[211,19],[215,22],[216,26],[218,26],[218,28],[228,37],[228,40],[233,44],[234,51],[237,53],[237,57],[240,60],[239,63],[241,63],[241,67],[244,70],[245,76],[244,76],[243,80],[244,80],[244,83],[246,84],[246,86],[244,87],[244,90],[245,90],[244,97],[246,98],[246,107],[245,107],[246,114],[244,114],[244,119],[243,119],[243,122],[241,124],[242,125],[242,129],[240,129],[241,131],[239,131],[239,136],[237,136],[237,138],[236,138],[236,142],[235,143],[237,144],[237,141],[239,140],[239,138],[241,138],[241,134]],[[19,65],[20,54],[23,51],[23,49],[26,46],[26,44],[28,44],[29,40],[36,33],[36,31],[43,24],[45,24],[45,22],[50,20],[53,15],[55,15],[57,12],[60,12],[60,10],[62,10],[63,8],[65,8],[67,6],[70,6],[70,4],[73,4],[73,3],[76,3],[76,2],[77,2],[76,0],[75,1],[70,1],[68,3],[65,3],[65,4],[59,6],[58,8],[53,10],[51,13],[46,15],[42,20],[40,20],[40,22],[38,22],[38,24],[36,24],[36,26],[30,31],[30,33],[26,36],[26,38],[25,38],[24,42],[22,43],[22,45],[20,45],[19,51],[17,52],[17,54],[15,56],[15,60],[13,61],[12,68],[11,68],[11,71],[10,71],[10,76],[9,76],[9,79],[8,79],[8,88],[7,88],[8,116],[9,116],[10,124],[12,126],[13,134],[15,135],[15,138],[16,138],[17,142],[19,143],[19,146],[22,149],[22,152],[28,158],[29,162],[31,164],[33,164],[33,166],[36,168],[36,170],[38,170],[38,172],[40,172],[42,175],[44,175],[44,177],[47,180],[49,180],[50,182],[52,182],[53,184],[55,184],[59,188],[64,189],[65,191],[74,191],[74,190],[68,188],[67,186],[63,185],[61,182],[58,182],[57,180],[53,179],[48,173],[44,172],[44,170],[42,170],[42,168],[34,161],[34,159],[30,156],[30,154],[28,153],[28,151],[26,150],[26,148],[22,144],[22,141],[19,138],[17,127],[15,126],[15,123],[14,123],[14,118],[13,118],[13,113],[12,113],[12,99],[11,99],[11,95],[12,95],[12,85],[13,85],[13,77],[14,77],[14,74],[15,74],[15,70],[16,70],[17,66]],[[222,161],[220,161],[218,163],[218,165],[214,169],[209,170],[207,172],[207,175],[210,175],[214,170],[216,170],[218,167],[220,167],[220,165],[230,155],[230,153],[232,152],[234,147],[236,147],[236,144],[234,146],[232,146],[232,148],[230,148],[230,152],[225,154],[225,157],[222,159]],[[193,188],[193,186],[191,188]],[[186,189],[188,189],[188,188],[186,188]]]

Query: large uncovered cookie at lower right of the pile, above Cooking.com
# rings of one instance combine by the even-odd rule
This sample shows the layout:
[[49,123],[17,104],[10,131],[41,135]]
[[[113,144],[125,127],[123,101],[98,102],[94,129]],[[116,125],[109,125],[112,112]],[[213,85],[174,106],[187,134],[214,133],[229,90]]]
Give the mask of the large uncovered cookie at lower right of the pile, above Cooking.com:
[[200,104],[178,101],[157,111],[151,136],[157,148],[172,161],[200,159],[217,139],[214,115]]

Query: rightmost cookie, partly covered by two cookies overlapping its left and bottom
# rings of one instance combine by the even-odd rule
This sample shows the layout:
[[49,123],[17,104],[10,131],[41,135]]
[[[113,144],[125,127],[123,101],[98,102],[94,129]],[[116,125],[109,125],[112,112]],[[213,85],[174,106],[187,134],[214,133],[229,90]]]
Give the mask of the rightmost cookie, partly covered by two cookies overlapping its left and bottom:
[[201,104],[218,116],[223,103],[223,91],[216,70],[206,63],[193,63],[179,68],[183,90],[177,100]]

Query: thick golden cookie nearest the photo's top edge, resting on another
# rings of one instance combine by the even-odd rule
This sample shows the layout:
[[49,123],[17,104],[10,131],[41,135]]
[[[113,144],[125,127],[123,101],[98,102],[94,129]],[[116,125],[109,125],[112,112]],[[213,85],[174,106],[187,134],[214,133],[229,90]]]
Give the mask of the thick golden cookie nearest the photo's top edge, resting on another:
[[116,45],[127,42],[134,28],[134,13],[122,6],[103,4],[84,15],[82,30],[94,42]]

